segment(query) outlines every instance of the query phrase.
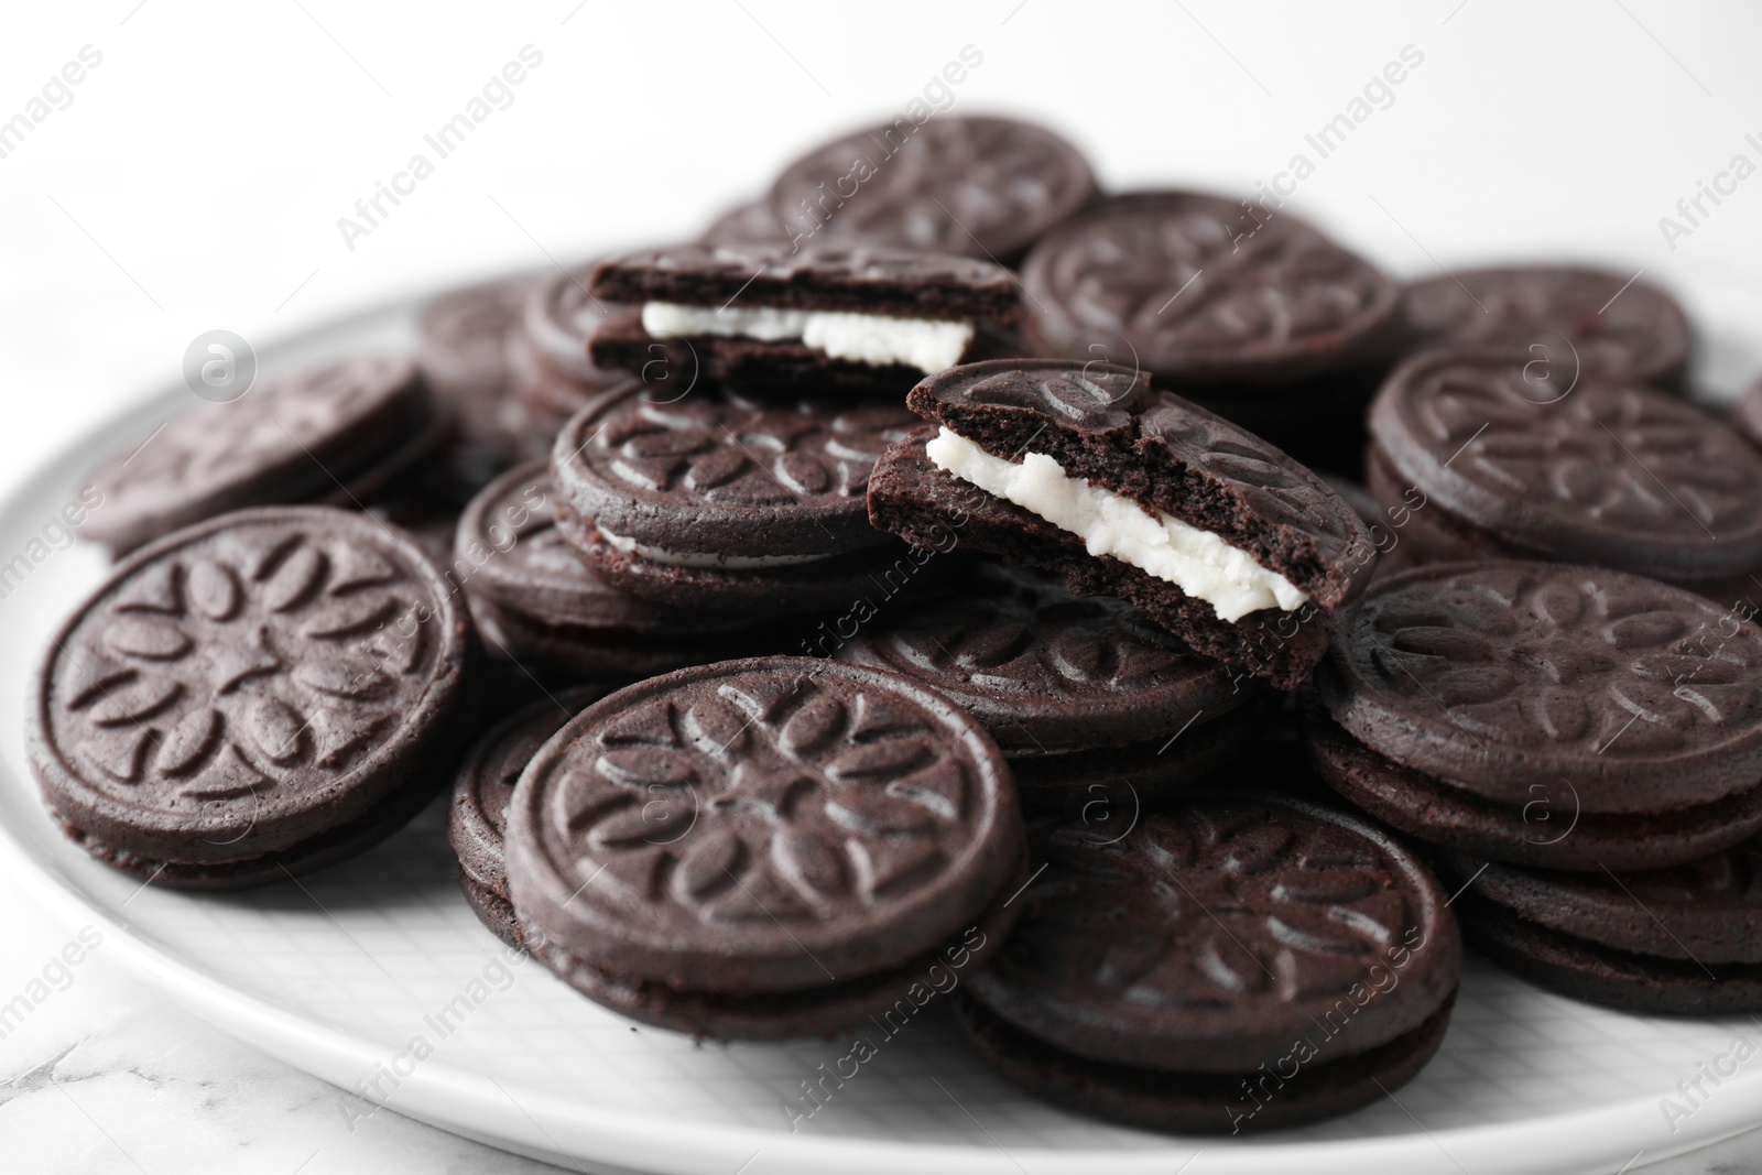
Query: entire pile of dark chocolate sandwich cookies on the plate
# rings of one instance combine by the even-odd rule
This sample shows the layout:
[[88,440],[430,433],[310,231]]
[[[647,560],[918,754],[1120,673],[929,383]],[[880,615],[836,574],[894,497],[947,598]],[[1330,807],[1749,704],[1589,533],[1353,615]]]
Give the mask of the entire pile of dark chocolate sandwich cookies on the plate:
[[1762,391],[1686,398],[1663,291],[1404,287],[939,116],[419,338],[93,477],[127,557],[30,745],[100,860],[273,883],[451,782],[472,909],[620,1015],[948,995],[1158,1129],[1418,1073],[1455,911],[1584,999],[1762,1008]]

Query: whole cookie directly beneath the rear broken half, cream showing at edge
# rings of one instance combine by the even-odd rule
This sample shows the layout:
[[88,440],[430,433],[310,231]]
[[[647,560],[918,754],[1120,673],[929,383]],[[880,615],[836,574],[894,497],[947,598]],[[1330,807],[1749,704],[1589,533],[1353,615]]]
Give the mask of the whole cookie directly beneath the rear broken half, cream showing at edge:
[[574,416],[552,456],[557,528],[633,595],[745,624],[846,608],[906,555],[869,525],[904,407],[833,407],[643,389]]

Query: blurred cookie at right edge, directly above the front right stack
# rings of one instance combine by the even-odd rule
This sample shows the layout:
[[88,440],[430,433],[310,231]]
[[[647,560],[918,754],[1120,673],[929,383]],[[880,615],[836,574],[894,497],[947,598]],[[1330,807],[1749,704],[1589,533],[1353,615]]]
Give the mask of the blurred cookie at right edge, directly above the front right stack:
[[1411,507],[1403,541],[1427,560],[1600,564],[1762,601],[1762,454],[1676,396],[1524,351],[1434,351],[1388,379],[1371,435],[1371,491]]

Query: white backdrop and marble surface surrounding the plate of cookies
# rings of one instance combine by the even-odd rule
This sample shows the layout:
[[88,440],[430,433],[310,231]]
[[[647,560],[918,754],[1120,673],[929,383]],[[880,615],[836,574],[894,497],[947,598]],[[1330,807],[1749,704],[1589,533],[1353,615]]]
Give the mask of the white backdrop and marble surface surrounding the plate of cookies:
[[[1316,171],[1290,210],[1399,275],[1593,259],[1713,315],[1762,294],[1762,176],[1674,250],[1658,222],[1734,155],[1762,164],[1744,143],[1762,141],[1758,33],[1762,7],[1683,0],[12,4],[0,120],[83,46],[102,63],[0,159],[0,486],[174,382],[201,331],[264,344],[389,296],[694,233],[798,150],[899,115],[964,46],[983,63],[953,111],[1043,120],[1107,187],[1251,190],[1304,151]],[[543,63],[513,104],[347,248],[337,220],[412,153],[435,159],[423,134],[529,44]],[[1304,134],[1404,46],[1424,63],[1318,159]],[[1757,342],[1707,342],[1711,391],[1762,373]],[[69,930],[0,891],[0,992]],[[79,1105],[44,1083],[51,1060]],[[189,1170],[296,1171],[340,1127],[329,1106],[102,951],[0,1041],[7,1170],[171,1170],[146,1159],[173,1140]],[[448,1163],[502,1161],[388,1113],[310,1173]]]

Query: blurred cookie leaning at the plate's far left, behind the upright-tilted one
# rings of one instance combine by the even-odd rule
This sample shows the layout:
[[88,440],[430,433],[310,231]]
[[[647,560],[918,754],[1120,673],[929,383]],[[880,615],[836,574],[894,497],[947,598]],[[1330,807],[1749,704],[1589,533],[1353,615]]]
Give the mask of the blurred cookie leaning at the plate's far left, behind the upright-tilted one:
[[123,555],[231,509],[349,504],[391,483],[449,430],[449,414],[409,359],[301,368],[183,412],[92,470],[104,507],[81,534]]

